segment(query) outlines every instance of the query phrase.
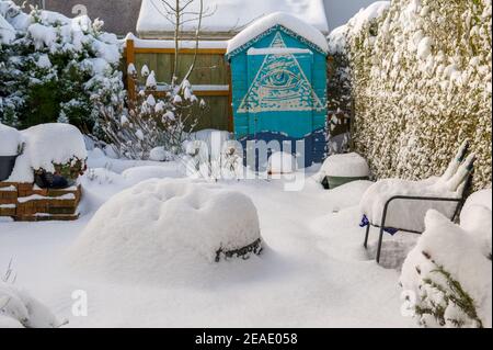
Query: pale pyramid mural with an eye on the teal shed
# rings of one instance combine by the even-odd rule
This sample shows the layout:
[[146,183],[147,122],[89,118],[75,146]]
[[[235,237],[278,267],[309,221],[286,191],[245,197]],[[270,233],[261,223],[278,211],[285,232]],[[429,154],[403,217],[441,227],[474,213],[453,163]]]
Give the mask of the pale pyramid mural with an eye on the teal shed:
[[[287,48],[280,33],[272,48]],[[324,106],[314,93],[301,66],[291,53],[267,54],[243,98],[239,113],[273,111],[312,111]]]

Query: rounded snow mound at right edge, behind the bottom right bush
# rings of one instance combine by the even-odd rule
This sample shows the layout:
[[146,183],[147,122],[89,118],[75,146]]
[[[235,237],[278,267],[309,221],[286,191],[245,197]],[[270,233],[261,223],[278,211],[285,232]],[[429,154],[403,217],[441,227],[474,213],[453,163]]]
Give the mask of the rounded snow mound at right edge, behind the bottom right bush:
[[471,194],[460,214],[460,226],[481,246],[483,255],[492,253],[492,190]]

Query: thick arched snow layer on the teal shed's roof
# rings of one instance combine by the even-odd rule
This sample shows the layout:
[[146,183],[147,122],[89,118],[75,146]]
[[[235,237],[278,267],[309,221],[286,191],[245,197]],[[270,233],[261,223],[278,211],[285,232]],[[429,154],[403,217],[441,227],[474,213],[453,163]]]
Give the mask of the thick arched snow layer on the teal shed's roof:
[[326,38],[317,27],[294,15],[284,12],[275,12],[255,21],[245,30],[241,31],[240,34],[230,39],[227,55],[234,55],[236,50],[243,48],[249,42],[255,39],[276,25],[282,25],[294,34],[299,35],[309,43],[316,45],[320,50],[324,53],[329,52]]

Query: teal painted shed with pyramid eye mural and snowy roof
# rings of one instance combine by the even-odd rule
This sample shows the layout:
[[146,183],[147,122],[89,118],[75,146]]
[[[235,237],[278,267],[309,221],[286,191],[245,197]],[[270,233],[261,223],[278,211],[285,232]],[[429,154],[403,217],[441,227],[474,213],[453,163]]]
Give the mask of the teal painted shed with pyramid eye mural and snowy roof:
[[290,142],[294,154],[303,140],[306,166],[322,161],[326,57],[324,35],[285,13],[264,16],[232,38],[227,59],[237,139]]

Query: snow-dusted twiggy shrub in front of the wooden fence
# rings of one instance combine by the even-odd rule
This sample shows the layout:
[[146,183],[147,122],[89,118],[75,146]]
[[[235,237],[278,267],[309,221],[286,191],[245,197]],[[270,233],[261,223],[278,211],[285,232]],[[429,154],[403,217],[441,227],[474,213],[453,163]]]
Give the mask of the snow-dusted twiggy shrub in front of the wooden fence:
[[[114,150],[128,159],[149,159],[157,147],[163,150],[162,160],[170,160],[182,154],[182,143],[194,128],[202,110],[200,102],[193,94],[187,80],[179,86],[170,86],[164,98],[156,99],[152,91],[157,81],[154,72],[144,66],[141,75],[147,79],[145,89],[138,90],[138,74],[134,65],[129,65],[128,75],[136,82],[136,100],[126,101],[123,97],[115,100],[114,105],[95,95],[93,101],[102,115],[101,128]],[[128,102],[128,104],[127,104]]]

